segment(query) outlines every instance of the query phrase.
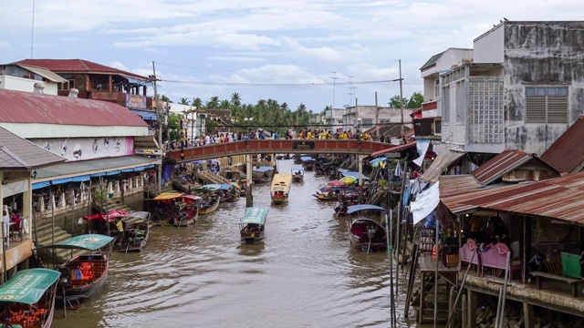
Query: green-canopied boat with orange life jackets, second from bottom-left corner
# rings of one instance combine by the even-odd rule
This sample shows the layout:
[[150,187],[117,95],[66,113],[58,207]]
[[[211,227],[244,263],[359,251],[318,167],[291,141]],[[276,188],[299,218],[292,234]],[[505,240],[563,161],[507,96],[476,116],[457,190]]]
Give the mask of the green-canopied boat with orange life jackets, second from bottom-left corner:
[[[57,266],[61,279],[57,284],[57,304],[75,308],[101,290],[108,278],[113,237],[102,234],[85,234],[59,241],[39,249],[86,250],[86,255],[76,256]],[[106,251],[101,251],[106,249]]]

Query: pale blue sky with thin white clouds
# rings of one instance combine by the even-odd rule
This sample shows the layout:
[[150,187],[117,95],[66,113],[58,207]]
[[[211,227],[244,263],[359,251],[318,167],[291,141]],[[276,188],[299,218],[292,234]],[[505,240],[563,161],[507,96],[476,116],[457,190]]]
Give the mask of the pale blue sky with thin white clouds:
[[[34,8],[34,10],[33,10]],[[33,15],[34,14],[34,15]],[[244,104],[387,106],[420,67],[511,21],[581,20],[581,0],[2,0],[0,63],[80,58],[161,79],[158,93]],[[34,21],[34,24],[33,24]],[[149,87],[148,95],[153,96]]]

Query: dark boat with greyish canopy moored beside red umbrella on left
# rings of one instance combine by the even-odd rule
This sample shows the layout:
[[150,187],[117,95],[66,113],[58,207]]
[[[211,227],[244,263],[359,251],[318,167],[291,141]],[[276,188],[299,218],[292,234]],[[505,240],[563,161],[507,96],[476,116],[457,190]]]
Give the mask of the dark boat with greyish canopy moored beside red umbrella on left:
[[150,235],[150,212],[135,211],[121,218],[124,236],[117,242],[118,250],[123,252],[142,251]]

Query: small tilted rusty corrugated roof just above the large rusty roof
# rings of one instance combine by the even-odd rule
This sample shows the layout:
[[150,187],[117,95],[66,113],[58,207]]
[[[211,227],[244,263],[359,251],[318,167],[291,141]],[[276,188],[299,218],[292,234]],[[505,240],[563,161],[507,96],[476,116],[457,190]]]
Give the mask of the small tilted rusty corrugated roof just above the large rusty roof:
[[503,178],[506,173],[519,168],[533,158],[534,156],[532,154],[527,154],[521,150],[504,150],[493,159],[481,165],[478,169],[474,169],[472,174],[474,178],[485,186],[496,179]]

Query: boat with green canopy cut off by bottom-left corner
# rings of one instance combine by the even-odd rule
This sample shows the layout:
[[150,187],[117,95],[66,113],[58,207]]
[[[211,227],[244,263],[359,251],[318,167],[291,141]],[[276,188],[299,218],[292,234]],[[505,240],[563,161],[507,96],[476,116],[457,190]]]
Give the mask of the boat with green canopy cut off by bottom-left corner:
[[[0,285],[1,327],[48,328],[53,323],[61,272],[27,269]],[[44,292],[43,292],[44,291]]]

